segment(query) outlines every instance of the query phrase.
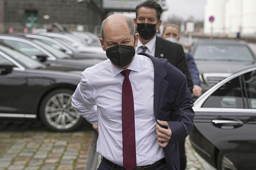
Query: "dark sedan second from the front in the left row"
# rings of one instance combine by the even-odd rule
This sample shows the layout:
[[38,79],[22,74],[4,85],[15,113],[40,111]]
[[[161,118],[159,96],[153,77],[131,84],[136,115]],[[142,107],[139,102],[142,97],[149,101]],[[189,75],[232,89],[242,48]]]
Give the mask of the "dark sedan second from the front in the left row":
[[48,65],[73,67],[84,70],[103,61],[97,58],[72,58],[68,54],[54,49],[40,40],[33,40],[21,36],[0,34],[0,42]]

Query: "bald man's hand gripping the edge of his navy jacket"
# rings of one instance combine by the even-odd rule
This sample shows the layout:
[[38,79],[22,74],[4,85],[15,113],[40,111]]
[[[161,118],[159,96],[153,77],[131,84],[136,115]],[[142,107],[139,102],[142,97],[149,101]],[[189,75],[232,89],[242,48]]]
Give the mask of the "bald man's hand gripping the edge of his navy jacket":
[[[157,136],[157,143],[161,147],[166,147],[171,139],[172,131],[168,122],[157,120],[157,122],[162,125],[166,126],[168,129],[161,128],[158,124],[156,124],[156,136]],[[161,143],[163,142],[163,143]]]

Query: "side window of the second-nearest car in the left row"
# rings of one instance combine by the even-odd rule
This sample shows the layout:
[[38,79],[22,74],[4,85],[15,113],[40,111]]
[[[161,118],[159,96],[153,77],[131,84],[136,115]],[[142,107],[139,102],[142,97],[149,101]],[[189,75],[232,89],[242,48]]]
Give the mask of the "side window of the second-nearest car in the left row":
[[43,53],[41,52],[41,50],[37,49],[36,47],[21,41],[4,40],[4,43],[28,56],[38,56]]

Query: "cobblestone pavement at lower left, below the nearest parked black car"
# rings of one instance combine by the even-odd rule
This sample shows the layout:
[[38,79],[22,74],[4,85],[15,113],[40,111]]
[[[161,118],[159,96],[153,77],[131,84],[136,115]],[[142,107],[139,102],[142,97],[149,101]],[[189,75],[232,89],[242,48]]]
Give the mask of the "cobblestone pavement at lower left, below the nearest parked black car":
[[94,136],[89,127],[50,132],[40,121],[0,118],[0,170],[85,170]]

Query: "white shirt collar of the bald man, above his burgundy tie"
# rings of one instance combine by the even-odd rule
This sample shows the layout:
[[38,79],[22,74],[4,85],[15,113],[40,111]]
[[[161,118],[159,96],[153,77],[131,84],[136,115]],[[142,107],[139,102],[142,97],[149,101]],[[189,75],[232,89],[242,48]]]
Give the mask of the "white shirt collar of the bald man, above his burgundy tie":
[[[134,57],[131,65],[127,69],[140,72],[140,60],[139,60],[139,57],[137,56],[137,54],[135,54],[135,57]],[[115,77],[117,74],[119,74],[121,71],[123,71],[123,69],[119,69],[118,67],[114,66],[112,64],[112,62],[110,62],[110,71],[111,71],[113,77]]]

